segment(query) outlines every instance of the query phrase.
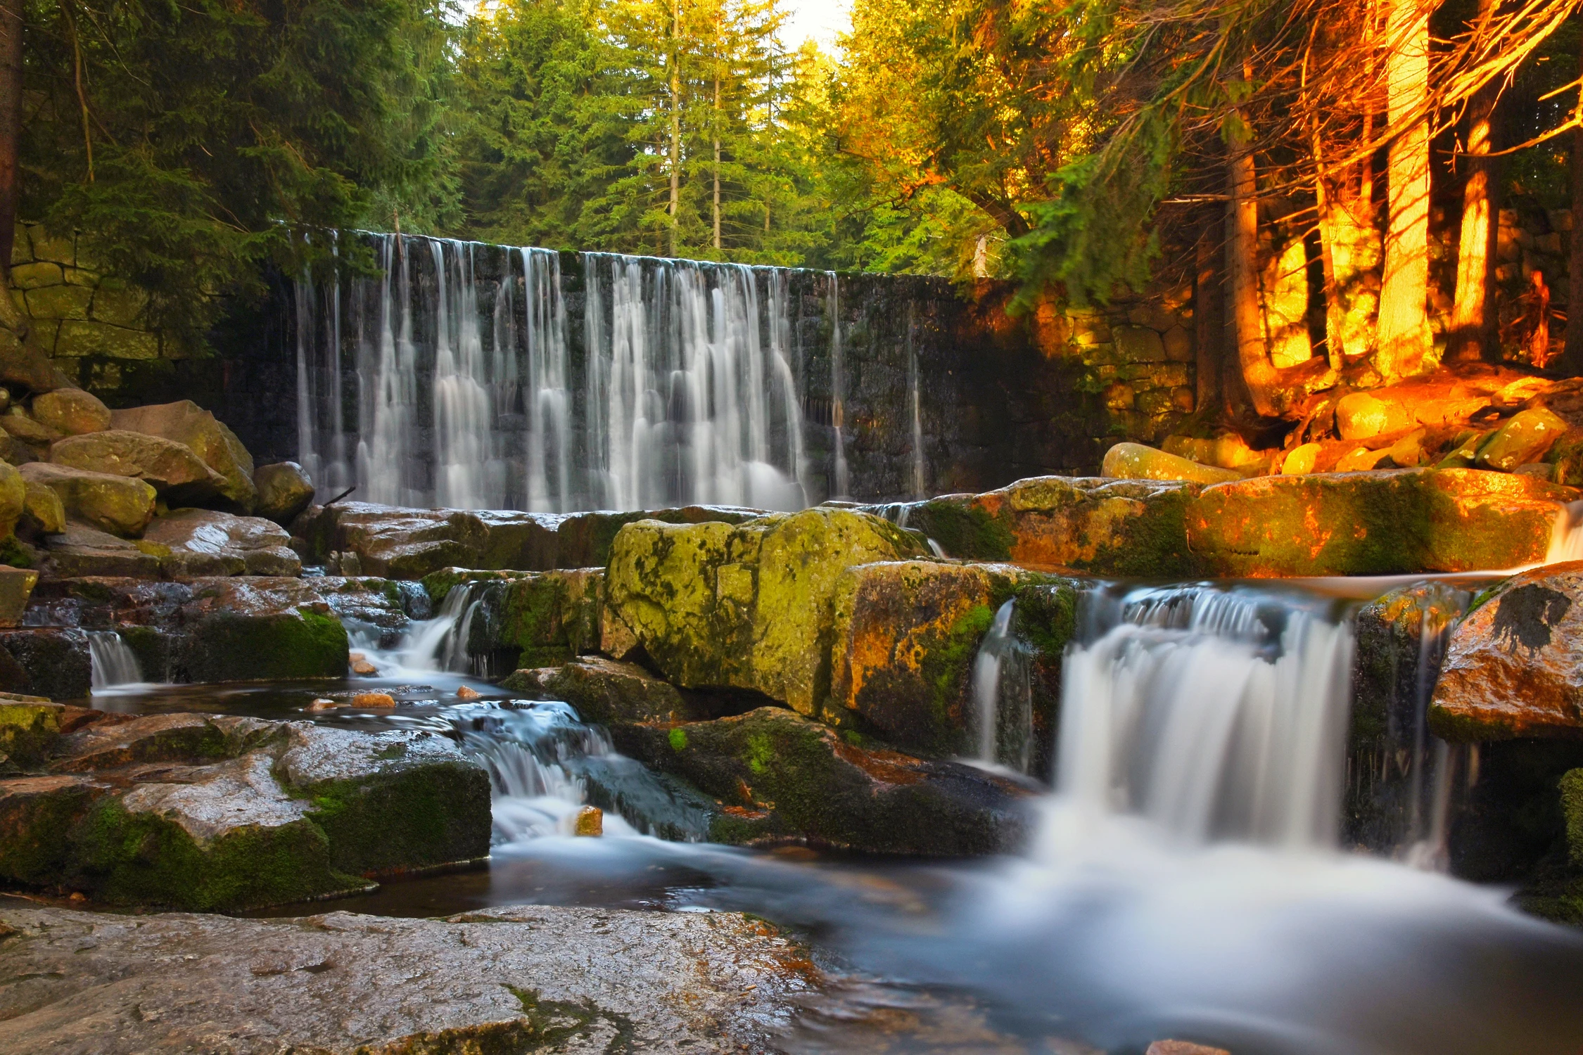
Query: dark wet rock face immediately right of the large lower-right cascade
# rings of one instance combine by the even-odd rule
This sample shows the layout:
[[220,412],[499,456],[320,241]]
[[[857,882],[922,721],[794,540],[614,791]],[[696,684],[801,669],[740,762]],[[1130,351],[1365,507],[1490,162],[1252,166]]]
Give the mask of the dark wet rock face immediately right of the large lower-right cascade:
[[1353,617],[1344,845],[1390,854],[1428,834],[1436,767],[1452,764],[1429,735],[1429,696],[1450,631],[1471,601],[1467,590],[1415,584]]

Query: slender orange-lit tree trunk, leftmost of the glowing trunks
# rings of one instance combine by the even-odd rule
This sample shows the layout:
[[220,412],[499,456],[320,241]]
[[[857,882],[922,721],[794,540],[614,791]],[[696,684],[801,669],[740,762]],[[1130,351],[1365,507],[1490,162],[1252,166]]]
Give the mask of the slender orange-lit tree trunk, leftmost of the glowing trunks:
[[1262,418],[1277,413],[1279,383],[1258,307],[1258,180],[1247,125],[1232,115],[1227,136],[1225,296],[1227,318],[1247,395]]

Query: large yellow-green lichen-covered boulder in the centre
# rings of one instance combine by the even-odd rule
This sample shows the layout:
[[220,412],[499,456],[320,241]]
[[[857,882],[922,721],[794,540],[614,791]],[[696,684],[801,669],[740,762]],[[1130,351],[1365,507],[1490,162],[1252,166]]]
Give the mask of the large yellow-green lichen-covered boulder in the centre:
[[915,536],[848,509],[738,525],[640,520],[611,546],[606,604],[676,685],[758,691],[812,715],[829,688],[842,571],[921,554]]

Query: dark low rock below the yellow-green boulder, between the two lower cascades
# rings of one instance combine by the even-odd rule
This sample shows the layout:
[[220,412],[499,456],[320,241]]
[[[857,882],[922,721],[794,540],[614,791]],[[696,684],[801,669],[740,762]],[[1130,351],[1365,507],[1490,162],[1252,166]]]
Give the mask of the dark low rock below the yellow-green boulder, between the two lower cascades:
[[806,838],[896,854],[986,854],[1027,834],[1026,791],[955,762],[858,747],[779,707],[682,726],[611,729],[616,747],[725,804],[709,837]]

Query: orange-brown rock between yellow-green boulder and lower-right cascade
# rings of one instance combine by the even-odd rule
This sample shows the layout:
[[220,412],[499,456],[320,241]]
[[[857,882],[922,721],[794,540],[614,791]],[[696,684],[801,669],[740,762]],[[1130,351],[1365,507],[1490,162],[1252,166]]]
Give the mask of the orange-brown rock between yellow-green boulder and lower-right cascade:
[[826,720],[856,723],[909,751],[977,754],[978,645],[1018,587],[1056,580],[1010,565],[848,568],[836,584]]

